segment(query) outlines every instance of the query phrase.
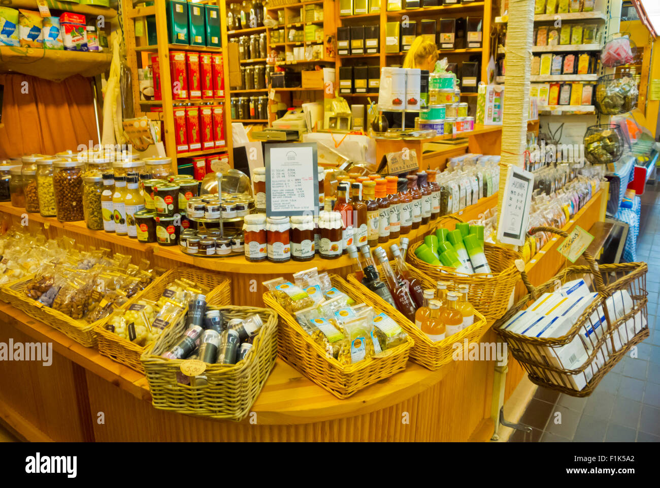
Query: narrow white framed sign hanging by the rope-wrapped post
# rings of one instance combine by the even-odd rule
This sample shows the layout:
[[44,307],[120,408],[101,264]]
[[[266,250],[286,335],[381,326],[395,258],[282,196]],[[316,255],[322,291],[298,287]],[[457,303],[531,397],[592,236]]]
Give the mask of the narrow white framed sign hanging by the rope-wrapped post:
[[518,246],[525,243],[533,189],[534,175],[510,165],[497,230],[497,238],[501,243]]

